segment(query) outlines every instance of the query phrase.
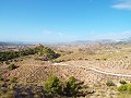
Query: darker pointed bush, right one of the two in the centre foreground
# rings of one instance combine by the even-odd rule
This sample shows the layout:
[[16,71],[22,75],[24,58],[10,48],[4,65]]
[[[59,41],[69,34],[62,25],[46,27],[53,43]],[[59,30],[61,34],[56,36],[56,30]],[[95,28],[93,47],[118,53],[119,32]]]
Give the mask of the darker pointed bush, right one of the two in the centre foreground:
[[76,79],[73,76],[71,76],[66,83],[63,91],[67,96],[74,96],[78,94],[79,85],[76,84]]

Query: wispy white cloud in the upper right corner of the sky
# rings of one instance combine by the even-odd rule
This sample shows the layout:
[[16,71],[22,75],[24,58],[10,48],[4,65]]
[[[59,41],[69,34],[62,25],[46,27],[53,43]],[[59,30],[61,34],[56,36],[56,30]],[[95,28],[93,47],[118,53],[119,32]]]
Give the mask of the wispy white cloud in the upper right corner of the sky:
[[111,5],[114,9],[131,10],[131,0],[119,0],[116,4]]

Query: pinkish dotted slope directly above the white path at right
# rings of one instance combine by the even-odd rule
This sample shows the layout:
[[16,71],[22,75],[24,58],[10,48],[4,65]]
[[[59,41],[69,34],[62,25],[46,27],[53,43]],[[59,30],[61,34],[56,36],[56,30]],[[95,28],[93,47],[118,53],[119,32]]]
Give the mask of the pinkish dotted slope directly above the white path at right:
[[121,59],[117,60],[99,60],[99,61],[86,61],[86,60],[79,60],[79,61],[68,61],[63,62],[70,65],[85,65],[88,68],[94,68],[100,70],[103,72],[109,72],[114,74],[131,74],[131,59]]

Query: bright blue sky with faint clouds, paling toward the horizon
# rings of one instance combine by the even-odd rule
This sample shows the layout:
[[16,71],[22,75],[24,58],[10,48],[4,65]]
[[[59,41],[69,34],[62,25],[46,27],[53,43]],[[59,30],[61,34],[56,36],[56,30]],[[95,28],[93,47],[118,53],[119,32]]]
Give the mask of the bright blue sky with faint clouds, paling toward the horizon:
[[131,37],[131,0],[0,0],[0,41]]

